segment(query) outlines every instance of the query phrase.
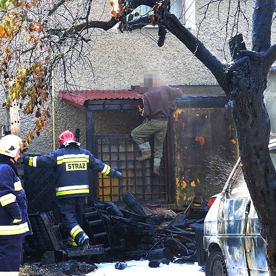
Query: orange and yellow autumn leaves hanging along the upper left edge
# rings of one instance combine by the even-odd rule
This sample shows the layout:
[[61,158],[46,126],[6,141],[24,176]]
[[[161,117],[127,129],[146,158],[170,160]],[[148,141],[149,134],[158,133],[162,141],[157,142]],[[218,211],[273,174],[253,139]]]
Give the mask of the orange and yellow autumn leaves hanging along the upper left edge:
[[[1,1],[0,19],[1,65],[0,77],[8,97],[3,106],[9,108],[14,100],[19,101],[24,114],[33,114],[37,121],[29,132],[25,143],[28,145],[34,133],[38,136],[47,126],[48,101],[47,59],[49,47],[37,55],[42,48],[41,37],[45,35],[39,20],[30,19],[28,13],[37,7],[38,1]],[[18,42],[20,46],[18,46]],[[26,56],[29,60],[26,60]]]

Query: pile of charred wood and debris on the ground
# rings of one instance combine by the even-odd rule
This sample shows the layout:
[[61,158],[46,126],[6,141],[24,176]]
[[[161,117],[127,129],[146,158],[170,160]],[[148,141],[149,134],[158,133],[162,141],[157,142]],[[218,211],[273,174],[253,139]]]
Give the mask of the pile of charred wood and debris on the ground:
[[30,215],[34,232],[28,240],[31,250],[42,252],[45,263],[86,257],[92,262],[117,261],[117,269],[125,268],[123,261],[141,258],[149,260],[150,267],[170,261],[203,265],[200,247],[209,209],[205,202],[191,202],[184,211],[164,209],[160,204],[142,208],[130,191],[123,201],[123,209],[99,199],[87,204],[83,230],[90,238],[88,248],[66,246],[53,215]]

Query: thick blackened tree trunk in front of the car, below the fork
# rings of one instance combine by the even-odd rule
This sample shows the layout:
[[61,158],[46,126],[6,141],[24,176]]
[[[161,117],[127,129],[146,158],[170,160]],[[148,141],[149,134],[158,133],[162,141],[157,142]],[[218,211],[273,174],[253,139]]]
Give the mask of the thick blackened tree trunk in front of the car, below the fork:
[[258,214],[261,235],[268,243],[268,267],[271,275],[276,275],[276,170],[268,150],[271,126],[263,101],[267,76],[260,63],[254,64],[249,58],[239,62],[233,70],[229,100],[245,181]]

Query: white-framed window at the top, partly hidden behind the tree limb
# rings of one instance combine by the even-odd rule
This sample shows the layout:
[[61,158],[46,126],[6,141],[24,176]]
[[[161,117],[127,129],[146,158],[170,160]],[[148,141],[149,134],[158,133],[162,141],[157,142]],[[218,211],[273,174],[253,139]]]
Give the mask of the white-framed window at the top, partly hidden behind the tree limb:
[[[195,29],[196,27],[196,0],[170,0],[170,13],[174,14],[179,21],[185,25],[188,29]],[[135,14],[136,12],[139,16],[144,16],[147,13],[151,13],[150,7],[146,5],[139,6],[136,10],[132,12]]]

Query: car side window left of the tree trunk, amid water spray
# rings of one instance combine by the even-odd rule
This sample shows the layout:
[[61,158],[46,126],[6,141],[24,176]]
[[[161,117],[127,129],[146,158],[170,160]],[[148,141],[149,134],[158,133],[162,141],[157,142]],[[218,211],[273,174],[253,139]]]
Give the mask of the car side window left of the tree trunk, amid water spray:
[[233,173],[228,187],[229,189],[227,195],[230,199],[249,197],[249,191],[245,183],[241,163],[237,166],[235,172]]

